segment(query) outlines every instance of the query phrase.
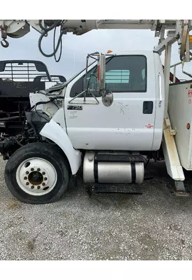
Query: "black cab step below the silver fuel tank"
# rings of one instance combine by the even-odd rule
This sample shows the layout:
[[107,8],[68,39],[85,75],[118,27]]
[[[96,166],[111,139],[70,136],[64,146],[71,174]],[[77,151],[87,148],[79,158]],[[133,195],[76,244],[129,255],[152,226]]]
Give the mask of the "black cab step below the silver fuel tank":
[[138,185],[109,185],[109,184],[94,184],[87,188],[89,195],[96,195],[99,193],[124,193],[131,195],[142,195],[141,187]]

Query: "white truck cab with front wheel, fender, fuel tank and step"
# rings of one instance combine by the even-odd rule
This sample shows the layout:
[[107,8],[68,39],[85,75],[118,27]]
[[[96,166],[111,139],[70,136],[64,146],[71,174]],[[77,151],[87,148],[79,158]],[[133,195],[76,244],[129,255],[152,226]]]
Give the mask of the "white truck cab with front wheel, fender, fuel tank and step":
[[[36,127],[40,138],[15,151],[6,167],[8,188],[19,200],[57,200],[70,174],[77,174],[81,165],[84,182],[94,184],[91,190],[98,193],[105,192],[106,186],[112,192],[128,193],[128,186],[139,186],[144,180],[143,155],[158,151],[163,136],[160,56],[154,51],[106,56],[103,77],[104,91],[112,97],[109,104],[98,90],[103,71],[100,59],[63,85],[30,94],[27,123]],[[18,161],[16,181],[10,167],[13,160]],[[15,191],[18,188],[20,192]]]

